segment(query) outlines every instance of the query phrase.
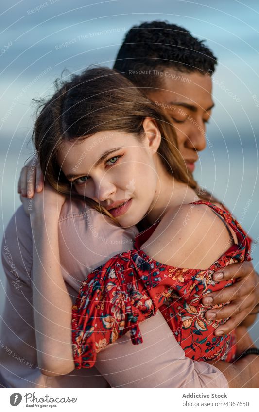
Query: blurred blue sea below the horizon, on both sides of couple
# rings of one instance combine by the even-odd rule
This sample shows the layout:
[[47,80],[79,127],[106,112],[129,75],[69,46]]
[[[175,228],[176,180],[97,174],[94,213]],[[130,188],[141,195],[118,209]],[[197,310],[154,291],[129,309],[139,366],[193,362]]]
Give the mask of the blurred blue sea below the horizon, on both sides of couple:
[[[240,220],[253,239],[259,241],[259,182],[258,148],[256,141],[240,142],[233,138],[221,141],[210,136],[211,145],[201,154],[195,178]],[[17,181],[24,161],[31,154],[30,148],[20,139],[10,143],[0,140],[1,177],[1,226],[3,237],[11,216],[20,205]],[[253,263],[259,272],[259,246],[254,245]],[[0,267],[0,310],[4,301],[4,274]],[[259,322],[251,329],[253,339],[259,339]]]

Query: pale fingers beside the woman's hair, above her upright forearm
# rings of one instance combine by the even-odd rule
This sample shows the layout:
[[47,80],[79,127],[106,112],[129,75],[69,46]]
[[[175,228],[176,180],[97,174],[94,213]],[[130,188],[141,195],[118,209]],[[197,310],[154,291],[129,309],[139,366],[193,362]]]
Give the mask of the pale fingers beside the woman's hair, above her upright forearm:
[[36,192],[41,192],[44,186],[43,173],[40,169],[38,155],[35,154],[21,169],[18,181],[18,193],[21,196],[33,198]]

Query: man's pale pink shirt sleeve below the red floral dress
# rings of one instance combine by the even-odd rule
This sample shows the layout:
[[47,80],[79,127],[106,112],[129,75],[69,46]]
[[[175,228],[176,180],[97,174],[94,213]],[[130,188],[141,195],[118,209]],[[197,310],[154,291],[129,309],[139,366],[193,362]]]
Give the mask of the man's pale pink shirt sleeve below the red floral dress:
[[163,315],[141,325],[142,345],[129,333],[97,355],[95,366],[113,388],[228,388],[224,374],[185,356]]

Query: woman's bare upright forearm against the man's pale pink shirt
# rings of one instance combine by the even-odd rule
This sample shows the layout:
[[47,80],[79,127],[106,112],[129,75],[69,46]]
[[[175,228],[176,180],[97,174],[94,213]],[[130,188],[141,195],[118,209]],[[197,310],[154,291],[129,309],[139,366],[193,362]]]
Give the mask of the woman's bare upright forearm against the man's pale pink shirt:
[[[62,277],[58,249],[56,210],[32,215],[33,307],[42,373],[59,375],[74,369],[71,342],[72,301]],[[54,373],[51,373],[54,372]]]

